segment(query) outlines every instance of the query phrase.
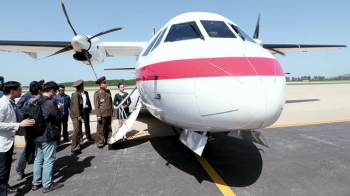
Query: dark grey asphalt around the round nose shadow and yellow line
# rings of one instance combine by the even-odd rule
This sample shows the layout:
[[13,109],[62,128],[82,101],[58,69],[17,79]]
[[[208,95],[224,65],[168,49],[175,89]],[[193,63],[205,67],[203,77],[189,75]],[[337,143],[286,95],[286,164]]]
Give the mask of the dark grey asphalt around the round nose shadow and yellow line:
[[[203,157],[226,185],[241,196],[350,195],[350,122],[257,130],[269,148],[223,134]],[[135,139],[98,149],[86,143],[83,153],[58,147],[55,181],[64,187],[50,193],[31,191],[32,165],[16,181],[23,148],[15,148],[10,185],[16,195],[222,195],[214,180],[178,136]]]

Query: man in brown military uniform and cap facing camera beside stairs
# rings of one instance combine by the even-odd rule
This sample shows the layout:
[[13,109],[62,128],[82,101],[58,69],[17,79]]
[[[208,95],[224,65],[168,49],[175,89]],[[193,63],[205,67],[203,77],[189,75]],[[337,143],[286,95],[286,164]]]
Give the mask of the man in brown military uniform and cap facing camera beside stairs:
[[106,77],[102,76],[96,80],[100,89],[94,94],[94,104],[97,117],[96,145],[103,148],[112,137],[112,116],[114,117],[114,107],[111,92],[107,89]]

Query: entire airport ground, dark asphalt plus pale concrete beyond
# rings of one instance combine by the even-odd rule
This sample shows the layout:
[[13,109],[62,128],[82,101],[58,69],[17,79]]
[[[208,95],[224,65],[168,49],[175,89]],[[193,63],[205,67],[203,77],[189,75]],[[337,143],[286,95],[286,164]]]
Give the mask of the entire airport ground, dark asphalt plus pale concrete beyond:
[[[179,128],[146,111],[126,142],[85,142],[80,155],[63,143],[54,179],[64,187],[47,195],[350,195],[350,84],[287,85],[286,97],[280,119],[257,130],[269,148],[213,134],[199,157],[179,141]],[[94,137],[94,112],[90,126]],[[16,181],[23,144],[17,136],[9,184],[22,188],[16,195],[43,195],[30,190],[33,165]]]

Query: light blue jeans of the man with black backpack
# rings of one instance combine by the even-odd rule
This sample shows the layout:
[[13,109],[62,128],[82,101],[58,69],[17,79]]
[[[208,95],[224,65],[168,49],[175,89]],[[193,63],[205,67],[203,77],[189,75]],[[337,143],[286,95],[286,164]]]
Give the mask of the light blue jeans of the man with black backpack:
[[[42,184],[49,188],[53,183],[53,164],[56,159],[56,141],[39,142],[35,141],[36,157],[33,167],[33,185]],[[41,171],[42,169],[42,171]]]

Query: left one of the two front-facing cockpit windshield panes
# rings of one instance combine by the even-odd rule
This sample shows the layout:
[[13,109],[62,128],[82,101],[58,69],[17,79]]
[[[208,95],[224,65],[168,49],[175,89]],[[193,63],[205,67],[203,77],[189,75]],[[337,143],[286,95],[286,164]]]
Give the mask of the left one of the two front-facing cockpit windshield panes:
[[164,42],[175,42],[196,38],[201,38],[204,40],[204,37],[196,22],[191,21],[172,25]]

